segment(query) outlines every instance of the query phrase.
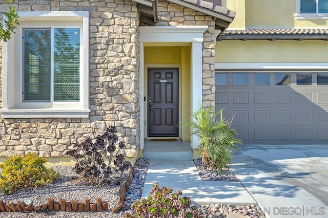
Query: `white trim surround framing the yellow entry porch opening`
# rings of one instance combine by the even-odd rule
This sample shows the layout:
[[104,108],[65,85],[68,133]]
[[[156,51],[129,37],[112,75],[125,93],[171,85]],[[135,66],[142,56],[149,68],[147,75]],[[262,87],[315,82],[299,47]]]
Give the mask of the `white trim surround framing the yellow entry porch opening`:
[[[139,42],[140,42],[140,78],[139,78],[139,106],[140,106],[140,124],[145,120],[144,99],[146,96],[144,90],[144,49],[145,43],[154,42],[152,46],[159,43],[175,43],[176,46],[186,46],[185,42],[191,44],[191,105],[195,110],[198,108],[199,102],[202,101],[202,77],[199,72],[202,72],[202,42],[203,34],[208,29],[208,26],[142,26],[139,27]],[[178,43],[176,43],[178,42]],[[142,47],[142,48],[141,48]],[[142,111],[141,111],[142,110]],[[140,149],[144,149],[145,132],[144,126],[140,126]],[[142,129],[142,130],[141,130]],[[192,148],[198,147],[198,138],[193,135],[191,138]]]

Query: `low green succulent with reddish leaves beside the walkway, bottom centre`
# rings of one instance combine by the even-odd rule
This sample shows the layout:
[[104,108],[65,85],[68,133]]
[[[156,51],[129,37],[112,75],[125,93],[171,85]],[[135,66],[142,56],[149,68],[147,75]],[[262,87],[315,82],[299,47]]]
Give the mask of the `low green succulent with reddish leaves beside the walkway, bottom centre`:
[[158,187],[153,185],[147,199],[140,199],[132,203],[133,217],[199,217],[196,206],[192,206],[189,197],[179,197],[181,191],[172,193],[173,188]]

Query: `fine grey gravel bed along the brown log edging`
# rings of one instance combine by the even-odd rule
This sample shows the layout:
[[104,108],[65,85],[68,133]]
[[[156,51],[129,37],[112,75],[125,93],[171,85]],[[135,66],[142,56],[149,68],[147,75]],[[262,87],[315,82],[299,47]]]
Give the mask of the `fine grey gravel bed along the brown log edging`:
[[[13,194],[0,194],[0,199],[4,202],[17,200],[32,200],[33,206],[46,204],[48,198],[54,201],[66,199],[67,201],[83,201],[85,198],[94,203],[95,199],[100,197],[108,202],[108,211],[102,212],[66,212],[66,211],[48,211],[40,210],[34,212],[0,212],[0,217],[122,217],[119,213],[112,213],[119,201],[119,185],[106,185],[93,187],[89,185],[79,185],[78,175],[72,170],[72,166],[52,167],[60,173],[60,178],[44,187],[37,189],[29,188],[24,191],[16,191]],[[73,180],[73,178],[75,178]]]

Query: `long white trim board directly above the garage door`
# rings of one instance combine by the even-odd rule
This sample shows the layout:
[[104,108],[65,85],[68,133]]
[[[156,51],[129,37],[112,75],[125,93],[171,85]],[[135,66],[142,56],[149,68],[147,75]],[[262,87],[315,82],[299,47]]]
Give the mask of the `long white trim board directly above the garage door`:
[[215,70],[328,70],[328,63],[215,63]]

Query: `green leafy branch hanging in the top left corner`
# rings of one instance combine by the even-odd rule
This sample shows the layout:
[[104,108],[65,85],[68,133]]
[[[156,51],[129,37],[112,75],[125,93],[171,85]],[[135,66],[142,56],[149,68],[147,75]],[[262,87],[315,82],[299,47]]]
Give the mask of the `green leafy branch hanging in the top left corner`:
[[15,33],[14,29],[18,23],[18,14],[16,9],[11,6],[12,0],[5,0],[6,4],[9,5],[9,11],[1,12],[5,17],[5,27],[0,23],[0,41],[7,41],[11,38],[11,33]]

